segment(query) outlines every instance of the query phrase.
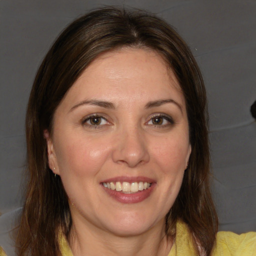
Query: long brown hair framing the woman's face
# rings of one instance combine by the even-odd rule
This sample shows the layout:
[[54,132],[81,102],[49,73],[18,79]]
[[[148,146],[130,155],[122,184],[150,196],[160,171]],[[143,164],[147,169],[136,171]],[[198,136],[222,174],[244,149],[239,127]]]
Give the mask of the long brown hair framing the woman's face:
[[51,130],[56,107],[90,62],[123,46],[159,52],[179,81],[192,151],[179,194],[166,215],[166,233],[174,235],[180,218],[210,254],[217,216],[209,191],[206,94],[198,66],[185,42],[162,19],[142,10],[105,7],[67,26],[36,74],[26,114],[28,184],[16,241],[18,255],[58,255],[59,228],[68,237],[72,220],[67,196],[60,178],[54,178],[48,167],[43,130]]

